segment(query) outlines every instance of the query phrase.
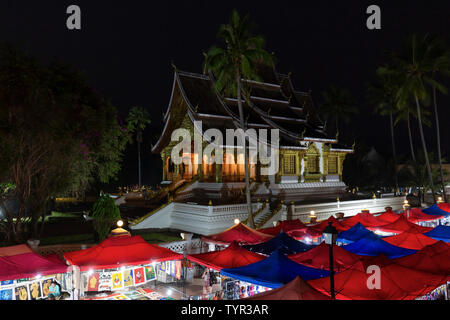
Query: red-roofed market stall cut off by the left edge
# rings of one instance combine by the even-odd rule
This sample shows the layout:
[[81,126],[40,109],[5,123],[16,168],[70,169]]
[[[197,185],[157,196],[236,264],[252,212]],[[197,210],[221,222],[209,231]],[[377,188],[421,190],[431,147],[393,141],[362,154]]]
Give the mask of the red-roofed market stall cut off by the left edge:
[[58,258],[43,257],[24,244],[0,248],[0,300],[46,299],[53,281],[70,296],[71,269]]

